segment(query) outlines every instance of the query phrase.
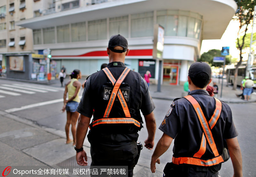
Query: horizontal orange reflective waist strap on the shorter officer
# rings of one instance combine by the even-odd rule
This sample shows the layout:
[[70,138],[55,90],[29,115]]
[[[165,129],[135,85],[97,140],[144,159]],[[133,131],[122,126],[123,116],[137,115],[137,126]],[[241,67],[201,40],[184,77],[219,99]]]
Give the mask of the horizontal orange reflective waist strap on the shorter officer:
[[192,158],[192,157],[172,157],[172,163],[176,165],[180,164],[191,164],[191,165],[199,165],[199,166],[212,166],[217,165],[224,162],[221,156],[209,159],[202,160],[200,158]]

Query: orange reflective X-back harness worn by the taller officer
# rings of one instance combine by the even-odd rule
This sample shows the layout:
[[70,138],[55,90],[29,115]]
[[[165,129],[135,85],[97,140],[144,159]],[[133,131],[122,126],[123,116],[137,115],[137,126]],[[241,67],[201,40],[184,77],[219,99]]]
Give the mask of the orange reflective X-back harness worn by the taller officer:
[[[99,124],[118,124],[118,123],[119,124],[134,124],[135,126],[140,127],[140,122],[131,117],[129,108],[124,99],[124,95],[120,89],[120,85],[122,84],[122,82],[124,81],[124,79],[126,78],[128,73],[131,71],[131,69],[126,67],[124,69],[123,73],[119,76],[119,78],[117,80],[114,78],[114,76],[112,75],[112,73],[109,71],[109,69],[107,67],[102,70],[107,75],[108,79],[111,81],[114,88],[113,88],[111,96],[109,98],[108,105],[107,105],[106,111],[103,116],[104,118],[97,119],[97,120],[93,121],[91,123],[90,127],[94,127]],[[124,114],[125,114],[125,118],[108,118],[109,113],[112,109],[112,106],[115,102],[116,96],[118,97],[118,99],[122,105],[122,108],[123,108]]]

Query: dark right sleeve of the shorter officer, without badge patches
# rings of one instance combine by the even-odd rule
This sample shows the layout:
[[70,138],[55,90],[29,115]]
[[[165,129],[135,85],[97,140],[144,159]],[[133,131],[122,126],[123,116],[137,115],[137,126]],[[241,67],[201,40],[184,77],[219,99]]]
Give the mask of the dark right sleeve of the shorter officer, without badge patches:
[[[238,133],[236,131],[236,127],[233,121],[231,109],[225,103],[222,103],[222,105],[226,108],[225,111],[227,111],[227,115],[228,115],[228,117],[226,118],[225,129],[222,137],[223,139],[235,138],[238,136]],[[222,109],[222,111],[224,111],[224,109]]]

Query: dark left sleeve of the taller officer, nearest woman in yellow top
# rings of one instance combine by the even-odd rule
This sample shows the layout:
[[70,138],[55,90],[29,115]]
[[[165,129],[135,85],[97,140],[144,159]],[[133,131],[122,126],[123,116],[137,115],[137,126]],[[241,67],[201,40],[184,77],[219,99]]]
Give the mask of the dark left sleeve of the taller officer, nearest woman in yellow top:
[[76,111],[79,112],[80,114],[91,118],[93,114],[93,108],[91,104],[91,96],[90,96],[90,80],[91,76],[86,80],[84,84],[84,92],[83,96],[81,98],[80,103],[78,104],[78,107],[76,108]]

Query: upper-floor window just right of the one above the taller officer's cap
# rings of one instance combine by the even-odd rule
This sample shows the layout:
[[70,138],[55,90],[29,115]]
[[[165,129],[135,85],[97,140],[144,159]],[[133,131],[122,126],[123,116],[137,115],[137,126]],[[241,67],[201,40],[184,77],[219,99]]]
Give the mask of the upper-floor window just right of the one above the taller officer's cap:
[[153,36],[153,12],[131,15],[131,36]]

